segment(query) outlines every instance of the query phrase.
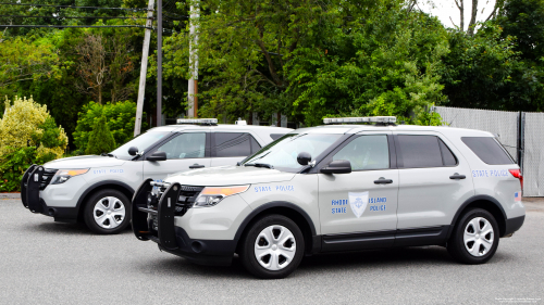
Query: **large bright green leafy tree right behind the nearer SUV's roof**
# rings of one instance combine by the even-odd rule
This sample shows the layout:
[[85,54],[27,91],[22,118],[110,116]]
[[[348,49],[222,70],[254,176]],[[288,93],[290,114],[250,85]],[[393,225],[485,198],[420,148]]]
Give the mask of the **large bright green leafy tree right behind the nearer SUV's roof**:
[[316,28],[312,48],[299,48],[287,64],[293,113],[307,125],[338,113],[396,115],[413,123],[431,104],[444,102],[437,71],[448,52],[436,18],[404,10],[400,2]]

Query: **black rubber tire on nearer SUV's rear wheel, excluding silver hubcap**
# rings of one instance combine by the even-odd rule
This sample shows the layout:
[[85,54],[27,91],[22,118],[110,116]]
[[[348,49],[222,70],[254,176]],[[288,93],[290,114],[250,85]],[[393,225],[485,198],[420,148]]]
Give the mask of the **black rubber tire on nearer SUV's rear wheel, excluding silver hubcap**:
[[[483,234],[481,237],[482,241],[484,239],[485,240],[487,240],[487,239],[493,240],[492,245],[489,246],[489,249],[486,251],[485,251],[484,245],[474,247],[475,245],[473,242],[472,243],[468,242],[468,245],[467,246],[465,245],[465,239],[463,239],[465,230],[467,229],[468,232],[471,233],[472,228],[468,227],[469,223],[478,217],[486,219],[493,228],[493,237],[491,237],[491,236],[484,237]],[[479,224],[480,224],[479,226],[481,226],[481,224],[485,224],[485,223],[480,221]],[[447,251],[448,251],[449,255],[452,255],[456,260],[458,260],[460,263],[468,264],[468,265],[484,264],[487,260],[490,260],[491,257],[493,257],[493,255],[497,251],[499,234],[500,233],[498,231],[497,221],[495,220],[495,217],[493,217],[493,215],[490,212],[482,209],[482,208],[472,208],[472,209],[467,211],[465,214],[462,214],[462,216],[457,221],[457,224],[454,228],[454,232],[452,233],[452,237],[449,238],[449,241],[447,242]],[[472,249],[474,249],[474,251],[478,252],[478,255],[481,255],[481,256],[474,256],[474,255],[470,254],[469,250],[467,249],[468,246],[469,247],[471,246]],[[481,253],[484,253],[484,254],[482,255]]]

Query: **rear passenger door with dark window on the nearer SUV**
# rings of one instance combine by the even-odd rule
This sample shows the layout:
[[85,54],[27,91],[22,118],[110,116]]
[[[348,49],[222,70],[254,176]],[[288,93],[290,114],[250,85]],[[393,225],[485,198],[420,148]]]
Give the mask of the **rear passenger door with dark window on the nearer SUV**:
[[474,194],[469,164],[438,132],[394,132],[399,168],[397,229],[450,225]]

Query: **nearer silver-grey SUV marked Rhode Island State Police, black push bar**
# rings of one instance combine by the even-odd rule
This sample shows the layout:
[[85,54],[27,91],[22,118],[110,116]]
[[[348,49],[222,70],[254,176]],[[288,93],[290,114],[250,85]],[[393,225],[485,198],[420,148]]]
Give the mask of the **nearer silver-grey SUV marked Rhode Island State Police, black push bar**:
[[487,262],[523,224],[518,165],[490,132],[395,120],[327,118],[378,124],[297,129],[236,166],[147,179],[134,233],[199,264],[237,253],[260,278],[286,277],[313,253],[391,246]]

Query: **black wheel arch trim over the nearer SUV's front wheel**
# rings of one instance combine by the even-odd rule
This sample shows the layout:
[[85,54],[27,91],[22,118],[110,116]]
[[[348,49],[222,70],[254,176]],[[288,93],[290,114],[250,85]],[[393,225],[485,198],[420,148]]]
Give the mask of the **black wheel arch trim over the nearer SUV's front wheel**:
[[297,224],[302,231],[305,239],[305,253],[312,253],[317,246],[321,246],[321,244],[316,244],[316,225],[306,211],[290,202],[273,201],[257,207],[242,221],[234,237],[234,240],[236,241],[236,252],[238,252],[238,245],[242,237],[249,230],[251,225],[261,217],[271,214],[283,215]]

